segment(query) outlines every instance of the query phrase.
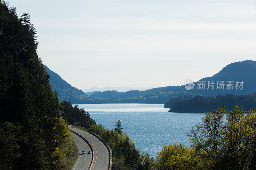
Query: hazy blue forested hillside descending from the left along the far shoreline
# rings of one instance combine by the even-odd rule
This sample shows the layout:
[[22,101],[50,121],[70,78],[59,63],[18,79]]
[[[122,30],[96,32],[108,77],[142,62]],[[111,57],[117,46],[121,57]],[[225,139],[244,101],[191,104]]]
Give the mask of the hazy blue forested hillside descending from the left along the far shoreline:
[[[98,97],[94,93],[91,96],[85,95],[82,90],[79,90],[72,85],[68,84],[67,81],[63,80],[57,73],[50,70],[48,67],[44,66],[47,70],[47,73],[50,75],[49,82],[52,84],[52,89],[58,93],[58,97],[60,100],[70,101],[73,104],[79,103],[164,103],[169,100],[171,97],[178,97],[183,94],[188,96],[196,96],[199,94],[193,94],[189,91],[182,89],[177,91],[166,91],[166,92],[156,92],[145,94],[144,96],[134,96],[135,91],[128,91],[127,97],[117,97],[122,92],[117,91],[104,91],[102,92],[104,95],[102,97]],[[139,91],[143,92],[143,91]],[[109,96],[109,94],[115,93],[114,97],[108,98],[105,96]],[[94,95],[94,96],[93,96]],[[142,95],[142,94],[141,94]]]

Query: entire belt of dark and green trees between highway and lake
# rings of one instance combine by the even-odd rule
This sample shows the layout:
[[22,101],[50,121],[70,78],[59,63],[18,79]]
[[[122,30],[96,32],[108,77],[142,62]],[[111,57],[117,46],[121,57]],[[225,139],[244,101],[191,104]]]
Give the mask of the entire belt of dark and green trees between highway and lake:
[[148,153],[136,148],[130,136],[123,132],[120,120],[116,122],[114,130],[106,129],[102,124],[97,125],[84,109],[79,109],[77,105],[73,107],[65,100],[60,102],[60,111],[67,123],[88,124],[87,129],[76,127],[95,133],[108,143],[113,152],[113,169],[148,170],[150,168],[153,159],[149,158]]

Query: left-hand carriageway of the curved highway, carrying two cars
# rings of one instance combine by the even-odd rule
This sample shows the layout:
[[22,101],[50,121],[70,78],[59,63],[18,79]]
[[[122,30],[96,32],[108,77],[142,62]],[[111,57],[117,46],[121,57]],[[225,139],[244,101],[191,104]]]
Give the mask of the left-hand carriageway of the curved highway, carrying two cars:
[[71,132],[71,134],[74,137],[73,141],[78,150],[78,157],[76,159],[74,166],[72,167],[72,170],[89,169],[90,162],[92,160],[92,154],[81,154],[82,151],[87,153],[90,150],[89,145],[75,133]]

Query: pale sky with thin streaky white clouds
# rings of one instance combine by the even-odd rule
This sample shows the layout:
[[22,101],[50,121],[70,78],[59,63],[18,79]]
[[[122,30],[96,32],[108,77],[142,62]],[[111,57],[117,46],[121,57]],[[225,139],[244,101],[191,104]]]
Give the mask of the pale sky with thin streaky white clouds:
[[[5,0],[6,1],[6,0]],[[255,0],[9,0],[78,89],[164,87],[256,60]]]

